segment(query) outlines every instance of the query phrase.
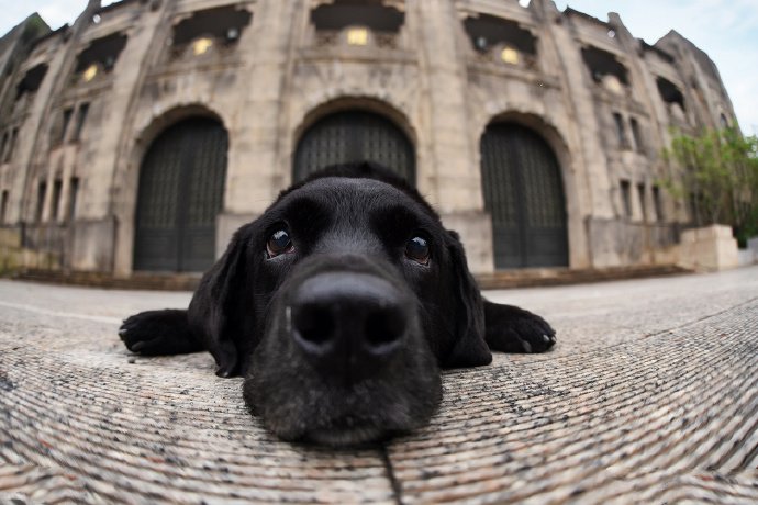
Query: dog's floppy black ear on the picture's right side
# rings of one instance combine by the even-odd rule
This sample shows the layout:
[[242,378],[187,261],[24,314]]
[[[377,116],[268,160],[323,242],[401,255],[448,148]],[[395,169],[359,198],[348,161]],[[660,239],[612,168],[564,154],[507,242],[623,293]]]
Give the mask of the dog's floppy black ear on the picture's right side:
[[477,367],[492,361],[484,341],[484,302],[479,287],[468,270],[466,252],[458,234],[447,232],[447,251],[450,258],[450,288],[455,296],[455,341],[443,364],[448,368]]

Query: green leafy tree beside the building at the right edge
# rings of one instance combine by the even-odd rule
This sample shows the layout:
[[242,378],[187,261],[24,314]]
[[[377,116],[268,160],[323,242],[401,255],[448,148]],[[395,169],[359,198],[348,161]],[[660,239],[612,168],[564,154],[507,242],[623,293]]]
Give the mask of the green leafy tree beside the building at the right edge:
[[758,137],[734,127],[677,134],[664,158],[680,168],[664,187],[689,202],[695,225],[728,224],[740,244],[758,235]]

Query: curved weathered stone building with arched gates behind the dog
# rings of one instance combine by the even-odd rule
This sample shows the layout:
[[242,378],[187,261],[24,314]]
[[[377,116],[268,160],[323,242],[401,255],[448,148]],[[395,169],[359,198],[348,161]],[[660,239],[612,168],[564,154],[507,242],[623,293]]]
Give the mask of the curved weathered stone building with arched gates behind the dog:
[[292,180],[397,169],[477,272],[672,261],[711,59],[550,0],[90,1],[0,40],[0,220],[66,270],[199,271]]

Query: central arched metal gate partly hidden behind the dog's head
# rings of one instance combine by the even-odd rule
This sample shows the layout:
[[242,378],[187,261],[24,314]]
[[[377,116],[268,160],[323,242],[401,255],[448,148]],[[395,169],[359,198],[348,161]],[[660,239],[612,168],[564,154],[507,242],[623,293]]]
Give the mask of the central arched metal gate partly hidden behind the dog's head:
[[392,122],[366,111],[337,112],[311,126],[298,144],[292,180],[330,165],[365,160],[384,165],[415,184],[411,142]]

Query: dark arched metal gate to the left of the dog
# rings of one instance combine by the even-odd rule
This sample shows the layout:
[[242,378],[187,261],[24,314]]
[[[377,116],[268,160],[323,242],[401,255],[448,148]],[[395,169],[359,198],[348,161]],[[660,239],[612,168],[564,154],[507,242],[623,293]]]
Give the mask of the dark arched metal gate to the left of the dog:
[[228,137],[214,120],[170,126],[151,145],[140,171],[134,270],[203,271],[215,259]]

